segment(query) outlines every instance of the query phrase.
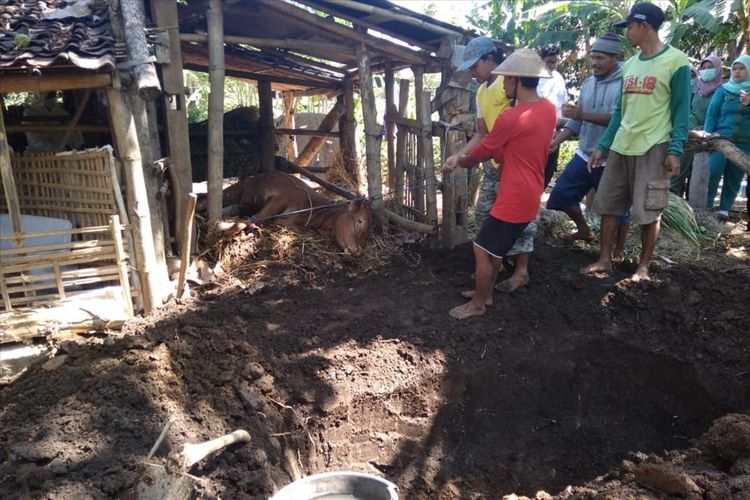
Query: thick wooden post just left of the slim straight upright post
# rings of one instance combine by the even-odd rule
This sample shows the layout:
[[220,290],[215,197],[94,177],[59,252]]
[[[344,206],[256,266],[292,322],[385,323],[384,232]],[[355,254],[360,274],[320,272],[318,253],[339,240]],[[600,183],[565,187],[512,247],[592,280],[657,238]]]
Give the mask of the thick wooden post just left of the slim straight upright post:
[[169,145],[169,157],[172,159],[169,175],[174,199],[175,241],[182,241],[182,217],[185,214],[188,193],[193,190],[193,169],[190,164],[177,2],[157,1],[150,4],[154,21],[159,28],[167,30],[169,37],[169,62],[162,62],[159,68],[164,85],[165,135]]

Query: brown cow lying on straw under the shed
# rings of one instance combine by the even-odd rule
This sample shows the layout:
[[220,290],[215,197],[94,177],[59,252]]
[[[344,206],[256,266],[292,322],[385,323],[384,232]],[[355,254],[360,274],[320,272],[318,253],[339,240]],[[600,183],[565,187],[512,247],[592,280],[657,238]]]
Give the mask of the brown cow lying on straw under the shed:
[[[362,198],[334,204],[301,180],[282,172],[264,172],[229,186],[223,193],[223,206],[230,205],[237,206],[239,215],[253,216],[258,223],[268,220],[315,229],[354,256],[362,253],[370,236],[371,210]],[[300,212],[272,217],[296,211]]]

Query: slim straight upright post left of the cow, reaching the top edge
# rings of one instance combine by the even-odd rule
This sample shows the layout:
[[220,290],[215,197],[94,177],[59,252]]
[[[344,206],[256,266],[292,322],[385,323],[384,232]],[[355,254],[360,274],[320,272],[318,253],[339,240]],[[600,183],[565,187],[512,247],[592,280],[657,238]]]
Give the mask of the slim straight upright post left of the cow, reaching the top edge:
[[224,13],[221,9],[221,0],[208,1],[208,79],[211,86],[208,95],[208,219],[211,221],[221,218],[224,180]]

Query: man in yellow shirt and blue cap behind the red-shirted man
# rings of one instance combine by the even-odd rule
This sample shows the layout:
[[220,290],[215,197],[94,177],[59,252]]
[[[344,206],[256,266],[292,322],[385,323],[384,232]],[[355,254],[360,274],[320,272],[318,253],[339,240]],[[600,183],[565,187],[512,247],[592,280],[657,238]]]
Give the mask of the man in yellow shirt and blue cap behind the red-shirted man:
[[[455,168],[458,165],[459,157],[474,149],[482,141],[482,138],[492,130],[497,117],[510,108],[511,102],[503,90],[503,77],[492,73],[501,62],[503,62],[502,52],[487,37],[474,38],[466,45],[463,63],[456,71],[471,71],[471,76],[480,82],[476,96],[476,133],[460,151],[446,158],[443,164],[444,169]],[[491,163],[491,166],[484,169],[479,197],[474,207],[474,222],[477,229],[482,227],[497,198],[500,179],[498,169],[501,167],[494,161]],[[536,221],[532,221],[508,252],[509,257],[515,257],[515,269],[510,278],[497,285],[498,291],[512,292],[529,282],[529,254],[534,250],[536,227]]]

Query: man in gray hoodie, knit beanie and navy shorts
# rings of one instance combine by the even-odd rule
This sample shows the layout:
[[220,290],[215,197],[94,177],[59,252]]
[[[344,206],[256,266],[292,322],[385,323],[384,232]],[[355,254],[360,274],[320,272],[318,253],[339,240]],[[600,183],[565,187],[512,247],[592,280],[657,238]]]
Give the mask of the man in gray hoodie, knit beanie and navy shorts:
[[[547,208],[560,210],[576,224],[576,232],[560,236],[565,241],[594,239],[594,232],[586,223],[580,202],[592,188],[599,186],[603,168],[589,170],[588,161],[597,149],[599,139],[622,96],[622,43],[616,33],[605,33],[591,46],[590,76],[581,86],[578,105],[566,104],[562,114],[568,122],[553,139],[550,151],[554,151],[564,141],[578,136],[578,151],[565,167],[555,183],[547,201]],[[627,235],[627,217],[620,220],[620,231],[615,246],[615,257],[622,255]]]

